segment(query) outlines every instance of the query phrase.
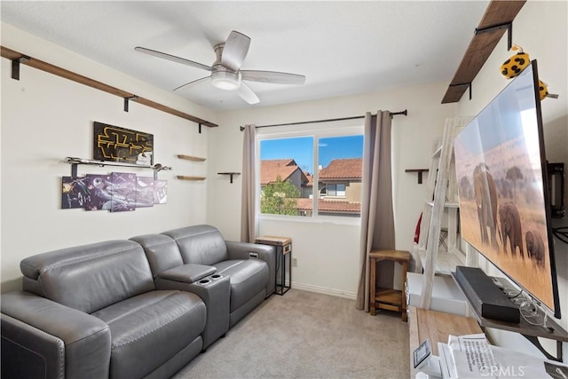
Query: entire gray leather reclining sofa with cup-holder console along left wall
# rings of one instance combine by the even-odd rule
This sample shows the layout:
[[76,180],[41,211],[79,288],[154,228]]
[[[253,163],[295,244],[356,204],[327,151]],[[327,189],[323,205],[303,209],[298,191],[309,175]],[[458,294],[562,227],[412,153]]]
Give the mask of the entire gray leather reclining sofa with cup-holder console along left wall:
[[272,295],[275,251],[195,225],[21,261],[2,377],[165,378]]

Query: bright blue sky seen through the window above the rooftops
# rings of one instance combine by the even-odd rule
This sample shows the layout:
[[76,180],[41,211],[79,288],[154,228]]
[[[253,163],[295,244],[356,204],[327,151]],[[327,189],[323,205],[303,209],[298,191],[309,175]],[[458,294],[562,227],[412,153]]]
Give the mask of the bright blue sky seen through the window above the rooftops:
[[[306,172],[313,173],[313,138],[264,139],[260,143],[260,160],[292,158]],[[362,158],[363,136],[319,138],[319,162],[327,167],[339,158]]]

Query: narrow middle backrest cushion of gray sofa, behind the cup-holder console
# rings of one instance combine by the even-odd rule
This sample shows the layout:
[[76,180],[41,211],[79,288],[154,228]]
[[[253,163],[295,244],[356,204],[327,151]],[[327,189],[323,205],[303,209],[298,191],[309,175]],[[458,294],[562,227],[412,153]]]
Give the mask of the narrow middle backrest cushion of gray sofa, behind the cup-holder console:
[[132,237],[130,240],[137,241],[146,251],[146,257],[148,257],[148,262],[150,262],[154,279],[160,273],[184,264],[176,241],[167,235],[145,234]]

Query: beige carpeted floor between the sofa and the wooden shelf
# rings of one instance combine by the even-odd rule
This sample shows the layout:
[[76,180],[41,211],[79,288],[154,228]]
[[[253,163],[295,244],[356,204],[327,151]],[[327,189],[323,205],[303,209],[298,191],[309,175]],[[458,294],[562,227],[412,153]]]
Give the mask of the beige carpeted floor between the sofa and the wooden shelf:
[[291,289],[271,296],[174,378],[410,377],[408,324],[353,300]]

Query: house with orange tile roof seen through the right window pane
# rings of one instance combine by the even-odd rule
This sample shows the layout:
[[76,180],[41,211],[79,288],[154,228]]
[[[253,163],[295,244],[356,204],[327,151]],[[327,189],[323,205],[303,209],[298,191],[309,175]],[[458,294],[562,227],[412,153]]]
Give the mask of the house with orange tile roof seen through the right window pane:
[[319,198],[326,201],[361,202],[361,158],[335,159],[319,170]]

